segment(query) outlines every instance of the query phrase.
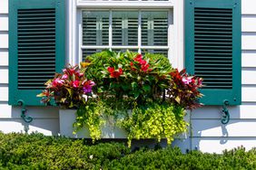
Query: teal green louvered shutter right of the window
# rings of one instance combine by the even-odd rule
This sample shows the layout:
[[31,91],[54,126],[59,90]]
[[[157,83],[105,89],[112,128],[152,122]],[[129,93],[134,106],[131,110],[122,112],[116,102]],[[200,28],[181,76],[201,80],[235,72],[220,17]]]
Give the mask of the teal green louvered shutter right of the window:
[[205,105],[241,104],[241,0],[185,1],[185,67]]

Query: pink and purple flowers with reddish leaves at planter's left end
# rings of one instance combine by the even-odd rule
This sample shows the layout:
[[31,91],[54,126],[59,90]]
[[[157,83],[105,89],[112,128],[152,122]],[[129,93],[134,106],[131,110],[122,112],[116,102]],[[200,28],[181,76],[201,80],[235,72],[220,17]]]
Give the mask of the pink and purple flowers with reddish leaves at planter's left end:
[[43,103],[54,99],[57,104],[69,108],[71,103],[76,105],[84,95],[90,95],[95,83],[86,80],[78,66],[70,66],[65,68],[62,74],[56,74],[53,80],[48,80],[45,85],[45,90],[37,95],[43,97]]

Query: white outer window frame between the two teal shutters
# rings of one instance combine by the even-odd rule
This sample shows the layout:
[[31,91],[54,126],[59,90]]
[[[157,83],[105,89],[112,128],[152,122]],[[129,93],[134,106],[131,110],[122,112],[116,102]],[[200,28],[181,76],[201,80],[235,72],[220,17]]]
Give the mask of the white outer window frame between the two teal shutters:
[[[82,58],[82,10],[91,9],[167,9],[172,11],[173,24],[168,27],[168,57],[172,67],[184,68],[183,45],[183,0],[169,1],[98,1],[98,0],[66,0],[67,1],[67,57],[66,62],[78,64]],[[140,29],[140,28],[139,28]],[[110,30],[111,32],[111,30]],[[140,34],[138,34],[139,36]],[[140,42],[140,41],[139,41]],[[122,47],[125,48],[125,47]],[[157,49],[157,46],[153,47]]]

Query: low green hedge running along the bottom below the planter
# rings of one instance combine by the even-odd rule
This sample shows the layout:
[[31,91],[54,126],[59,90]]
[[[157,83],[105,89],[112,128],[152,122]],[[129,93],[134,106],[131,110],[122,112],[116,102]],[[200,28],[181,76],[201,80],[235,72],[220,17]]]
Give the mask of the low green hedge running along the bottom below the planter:
[[177,147],[131,151],[123,143],[0,133],[0,169],[256,169],[256,149],[222,155]]

